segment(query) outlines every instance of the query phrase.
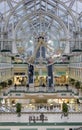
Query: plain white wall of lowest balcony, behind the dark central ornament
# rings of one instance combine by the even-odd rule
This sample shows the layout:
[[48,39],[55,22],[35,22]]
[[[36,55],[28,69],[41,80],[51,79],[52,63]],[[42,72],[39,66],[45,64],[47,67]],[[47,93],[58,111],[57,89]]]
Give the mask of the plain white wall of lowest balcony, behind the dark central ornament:
[[[21,116],[18,117],[16,113],[0,113],[0,122],[29,122],[29,116],[39,117],[41,112],[27,112],[21,113]],[[47,118],[44,122],[81,122],[82,113],[69,113],[67,117],[62,116],[62,113],[48,113],[45,112],[44,116]],[[41,121],[39,121],[41,122]]]

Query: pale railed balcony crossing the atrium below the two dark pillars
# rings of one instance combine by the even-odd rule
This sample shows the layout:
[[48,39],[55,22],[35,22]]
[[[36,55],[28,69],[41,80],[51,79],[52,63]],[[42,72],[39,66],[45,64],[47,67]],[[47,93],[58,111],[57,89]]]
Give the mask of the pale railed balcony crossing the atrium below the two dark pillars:
[[54,97],[62,97],[62,98],[74,98],[78,96],[78,91],[75,88],[72,88],[69,86],[67,89],[66,86],[55,86],[53,87],[29,87],[26,86],[17,86],[16,88],[14,86],[5,88],[1,92],[1,98],[8,97],[15,97],[15,98],[24,98],[29,96],[50,96],[52,98]]

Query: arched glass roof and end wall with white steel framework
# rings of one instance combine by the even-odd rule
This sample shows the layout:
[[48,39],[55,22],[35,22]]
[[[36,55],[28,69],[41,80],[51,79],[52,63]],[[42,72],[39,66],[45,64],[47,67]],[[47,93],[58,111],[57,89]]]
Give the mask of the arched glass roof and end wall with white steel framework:
[[8,33],[7,41],[12,41],[17,53],[32,63],[39,60],[46,63],[45,59],[51,57],[54,61],[57,56],[69,53],[68,44],[74,44],[71,39],[82,25],[81,19],[82,0],[0,1],[0,22]]

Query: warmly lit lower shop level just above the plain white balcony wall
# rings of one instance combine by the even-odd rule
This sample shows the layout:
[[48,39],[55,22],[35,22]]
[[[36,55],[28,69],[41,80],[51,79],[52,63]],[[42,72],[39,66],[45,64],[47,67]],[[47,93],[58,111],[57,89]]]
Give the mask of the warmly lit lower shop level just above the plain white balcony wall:
[[[45,96],[46,97],[46,96]],[[81,104],[77,102],[76,98],[37,98],[37,96],[28,96],[28,98],[6,98],[1,100],[1,106],[4,110],[6,108],[10,110],[16,109],[16,104],[21,103],[22,112],[39,111],[39,112],[62,112],[62,103],[65,102],[68,105],[70,112],[81,111]]]

